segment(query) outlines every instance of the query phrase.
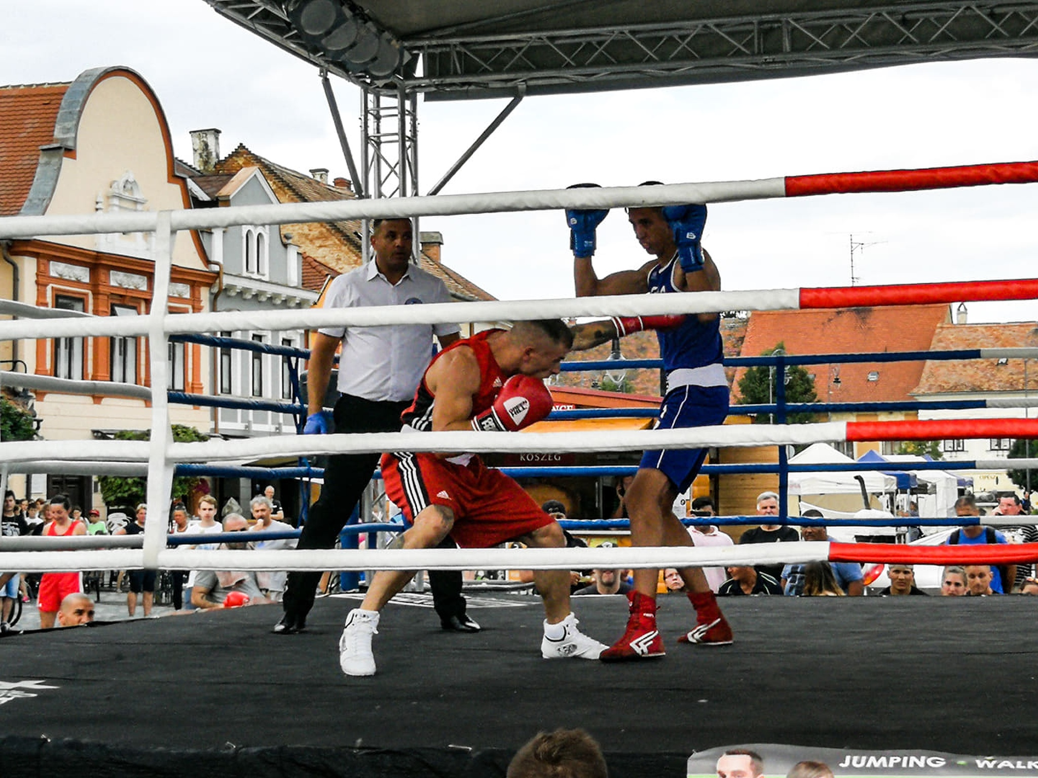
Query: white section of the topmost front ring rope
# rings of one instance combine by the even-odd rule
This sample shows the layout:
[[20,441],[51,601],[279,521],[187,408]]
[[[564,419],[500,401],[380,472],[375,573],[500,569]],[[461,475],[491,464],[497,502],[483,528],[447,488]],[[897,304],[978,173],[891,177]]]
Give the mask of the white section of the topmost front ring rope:
[[[239,205],[229,209],[174,211],[173,230],[231,227],[239,224],[296,224],[351,219],[408,219],[421,216],[498,214],[516,211],[681,205],[686,202],[735,202],[786,196],[786,179],[668,184],[658,187],[597,187],[522,192],[484,192],[390,197],[380,199]],[[0,219],[0,239],[86,235],[101,232],[149,232],[157,214],[151,212],[89,216],[8,216]],[[466,319],[467,321],[467,319]]]

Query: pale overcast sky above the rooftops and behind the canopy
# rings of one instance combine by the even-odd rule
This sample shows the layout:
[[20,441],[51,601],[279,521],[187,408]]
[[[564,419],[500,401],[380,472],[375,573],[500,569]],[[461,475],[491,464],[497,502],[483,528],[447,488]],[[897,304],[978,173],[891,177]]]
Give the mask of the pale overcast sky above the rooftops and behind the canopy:
[[[71,81],[127,65],[152,85],[176,155],[216,127],[307,171],[349,172],[317,68],[226,21],[203,0],[34,0],[0,8],[0,83]],[[334,80],[359,162],[360,92]],[[736,180],[1038,159],[1038,61],[976,60],[857,74],[528,98],[444,194]],[[419,102],[419,188],[439,180],[506,101]],[[726,289],[1036,275],[1038,185],[836,195],[711,206],[706,245]],[[501,299],[571,297],[559,213],[429,218],[444,261]],[[599,272],[648,257],[614,211]],[[1038,304],[971,304],[979,321],[1038,318]]]

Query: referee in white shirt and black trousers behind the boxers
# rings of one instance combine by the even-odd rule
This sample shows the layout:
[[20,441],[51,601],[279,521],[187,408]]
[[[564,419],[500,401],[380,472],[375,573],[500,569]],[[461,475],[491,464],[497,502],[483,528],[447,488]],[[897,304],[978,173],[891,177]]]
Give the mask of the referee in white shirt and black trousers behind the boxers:
[[[414,239],[409,219],[376,219],[372,223],[375,258],[331,282],[325,308],[370,305],[447,303],[443,281],[411,263]],[[307,373],[309,407],[305,435],[332,432],[324,412],[324,397],[339,343],[338,391],[334,432],[397,433],[400,415],[414,398],[415,389],[433,352],[433,336],[446,348],[459,338],[457,325],[389,325],[384,327],[326,327],[313,333]],[[299,549],[330,549],[353,512],[378,465],[379,454],[338,454],[329,457],[321,497],[310,506],[299,537]],[[274,627],[279,635],[306,628],[313,607],[319,572],[292,572],[281,602],[284,615]],[[445,630],[479,632],[465,614],[460,572],[430,572],[436,612]]]

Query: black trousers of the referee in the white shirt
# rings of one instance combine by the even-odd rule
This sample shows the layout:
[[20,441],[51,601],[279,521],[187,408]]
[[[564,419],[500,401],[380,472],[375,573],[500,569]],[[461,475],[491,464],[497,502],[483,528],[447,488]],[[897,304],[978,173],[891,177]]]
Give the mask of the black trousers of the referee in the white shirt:
[[[335,432],[400,432],[400,415],[410,405],[409,400],[380,401],[344,394],[335,404]],[[335,545],[335,538],[346,526],[378,464],[379,454],[336,454],[329,457],[321,497],[310,506],[296,548],[330,549]],[[289,573],[281,602],[284,612],[296,616],[309,613],[320,580],[321,574],[313,571]],[[441,619],[460,617],[465,613],[460,571],[430,571],[429,585]]]

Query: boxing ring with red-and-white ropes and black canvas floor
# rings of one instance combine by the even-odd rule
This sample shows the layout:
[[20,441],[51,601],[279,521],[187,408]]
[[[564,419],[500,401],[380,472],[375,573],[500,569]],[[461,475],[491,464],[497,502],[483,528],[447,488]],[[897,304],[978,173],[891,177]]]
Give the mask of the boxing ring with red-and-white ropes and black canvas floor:
[[[166,385],[166,344],[171,338],[207,338],[210,336],[206,333],[226,330],[1034,299],[1038,298],[1038,279],[337,310],[162,312],[168,296],[171,235],[183,229],[1034,182],[1038,182],[1038,163],[1026,162],[672,185],[653,187],[651,191],[633,187],[549,190],[200,212],[9,217],[0,219],[0,239],[154,231],[160,251],[153,312],[147,315],[5,321],[0,322],[0,339],[146,337],[152,382],[162,387]],[[304,355],[283,356],[301,359]],[[929,356],[923,352],[889,358],[919,360]],[[1035,356],[1038,350],[1001,349],[949,352],[935,358]],[[823,357],[824,361],[836,361],[832,355],[786,355],[756,358],[755,363],[782,368],[810,363],[804,360],[821,361]],[[845,355],[841,359],[863,357],[876,361],[873,354]],[[589,367],[592,364],[579,363],[572,369],[594,369]],[[51,383],[60,380],[46,377],[2,376],[0,380],[29,382],[23,386],[35,382],[35,386],[50,391],[58,391],[61,386]],[[111,385],[104,388],[112,390]],[[130,396],[152,402],[151,440],[0,442],[0,476],[5,481],[11,473],[62,468],[71,472],[88,468],[87,472],[93,474],[145,474],[148,515],[139,547],[97,537],[89,538],[91,548],[78,550],[63,550],[57,541],[49,548],[62,550],[29,550],[27,544],[5,543],[0,547],[0,568],[583,569],[816,560],[1010,563],[1038,558],[1038,545],[916,548],[829,541],[720,549],[173,550],[167,548],[165,517],[174,474],[252,472],[227,464],[243,460],[386,450],[541,452],[777,446],[777,465],[706,468],[730,468],[728,472],[755,472],[754,468],[760,468],[757,472],[776,472],[782,479],[797,467],[783,457],[787,445],[943,438],[1032,439],[1038,438],[1038,420],[825,421],[621,434],[284,435],[174,443],[167,432],[170,402],[204,405],[221,398],[169,394],[144,387],[115,387],[115,391],[122,388]],[[66,391],[76,389],[84,391],[86,387],[64,385]],[[247,407],[278,413],[301,411],[297,404],[268,405]],[[852,410],[846,404],[812,406],[812,410],[824,409]],[[774,411],[780,422],[786,413],[800,410],[805,409],[785,404],[781,395],[773,405],[733,409],[745,413]],[[559,412],[555,418],[580,418],[580,413],[585,412]],[[981,467],[986,463],[973,464]],[[1014,464],[1038,467],[1038,461]],[[911,467],[916,469],[916,465]],[[733,469],[736,467],[741,469]],[[880,467],[890,470],[892,464],[873,469]],[[711,472],[706,468],[705,472]],[[825,469],[838,468],[826,465]],[[855,463],[853,469],[868,470],[869,466]],[[271,471],[256,468],[254,472]],[[319,475],[309,467],[280,472],[284,477]],[[537,476],[558,471],[532,468],[507,472]],[[788,516],[785,499],[782,507],[783,516],[776,523],[826,523]],[[726,517],[702,523],[758,521],[754,517]],[[897,519],[893,523],[903,526],[929,521]],[[939,521],[941,525],[977,523],[973,519]],[[389,529],[395,527],[362,525],[355,531]],[[213,539],[212,535],[206,537]],[[923,598],[736,598],[723,604],[737,636],[736,644],[709,649],[676,644],[675,636],[687,629],[690,610],[683,598],[674,607],[667,607],[663,598],[660,624],[671,648],[666,660],[607,667],[591,662],[541,661],[536,640],[542,616],[535,600],[508,594],[473,598],[470,608],[476,609],[484,631],[475,636],[460,636],[437,629],[428,613],[429,602],[416,595],[394,601],[384,612],[384,634],[376,641],[380,671],[374,678],[363,679],[344,678],[335,666],[342,619],[352,607],[339,599],[355,603],[355,596],[350,594],[319,601],[308,619],[308,631],[291,639],[271,635],[269,629],[277,615],[272,608],[257,607],[189,616],[186,620],[170,617],[99,624],[4,640],[0,644],[0,716],[4,719],[0,729],[0,773],[19,778],[56,775],[74,765],[81,772],[114,770],[106,774],[118,775],[147,771],[189,775],[199,770],[272,776],[501,775],[511,753],[537,729],[573,725],[586,726],[607,744],[610,768],[617,775],[676,775],[684,770],[691,751],[733,742],[981,753],[998,748],[1001,753],[1011,754],[1027,754],[1033,749],[1034,732],[1028,714],[1038,682],[1029,668],[1038,660],[1038,648],[1025,637],[1031,614],[1028,598],[964,602],[951,598],[936,602]],[[575,603],[574,608],[583,632],[604,640],[611,640],[613,633],[619,635],[626,613],[622,598],[580,600],[584,602]],[[948,608],[957,609],[956,615],[952,616]],[[950,619],[956,627],[968,627],[950,630]],[[969,640],[973,635],[983,635],[987,641]],[[1007,650],[992,652],[992,643]],[[187,668],[191,670],[186,672]],[[977,668],[983,668],[983,672]],[[865,700],[868,715],[834,716],[826,702],[838,698]],[[1000,704],[980,717],[968,731],[946,726],[944,715],[948,711],[957,710],[962,700],[978,699],[994,699]],[[157,714],[156,700],[163,701],[161,714]],[[896,701],[897,712],[883,718],[878,715],[879,701]],[[103,713],[99,715],[99,711]],[[110,718],[113,711],[117,712],[115,726]],[[121,767],[113,768],[113,762]]]

